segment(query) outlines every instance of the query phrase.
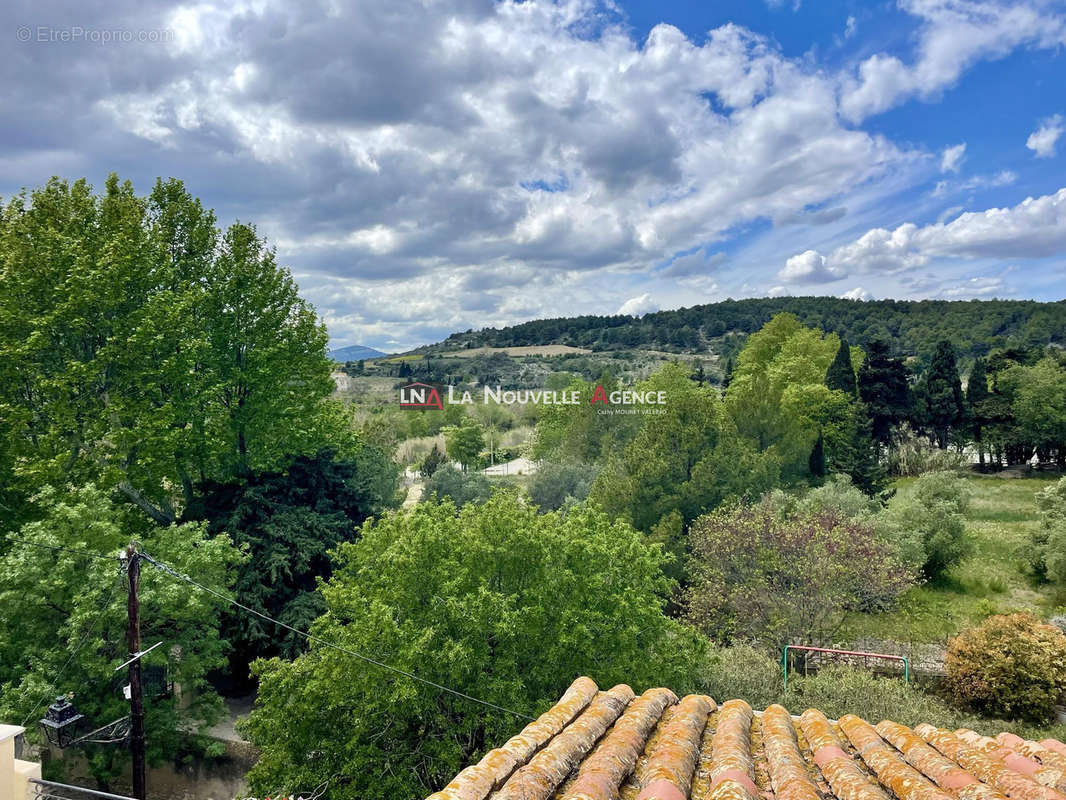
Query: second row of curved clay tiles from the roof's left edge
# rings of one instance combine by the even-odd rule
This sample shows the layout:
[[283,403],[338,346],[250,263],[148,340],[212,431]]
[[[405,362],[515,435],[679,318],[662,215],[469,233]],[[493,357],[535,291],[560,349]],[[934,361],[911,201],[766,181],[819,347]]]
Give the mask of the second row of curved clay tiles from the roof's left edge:
[[511,775],[503,788],[492,795],[494,800],[548,800],[633,697],[633,690],[625,684],[599,694],[584,714]]

